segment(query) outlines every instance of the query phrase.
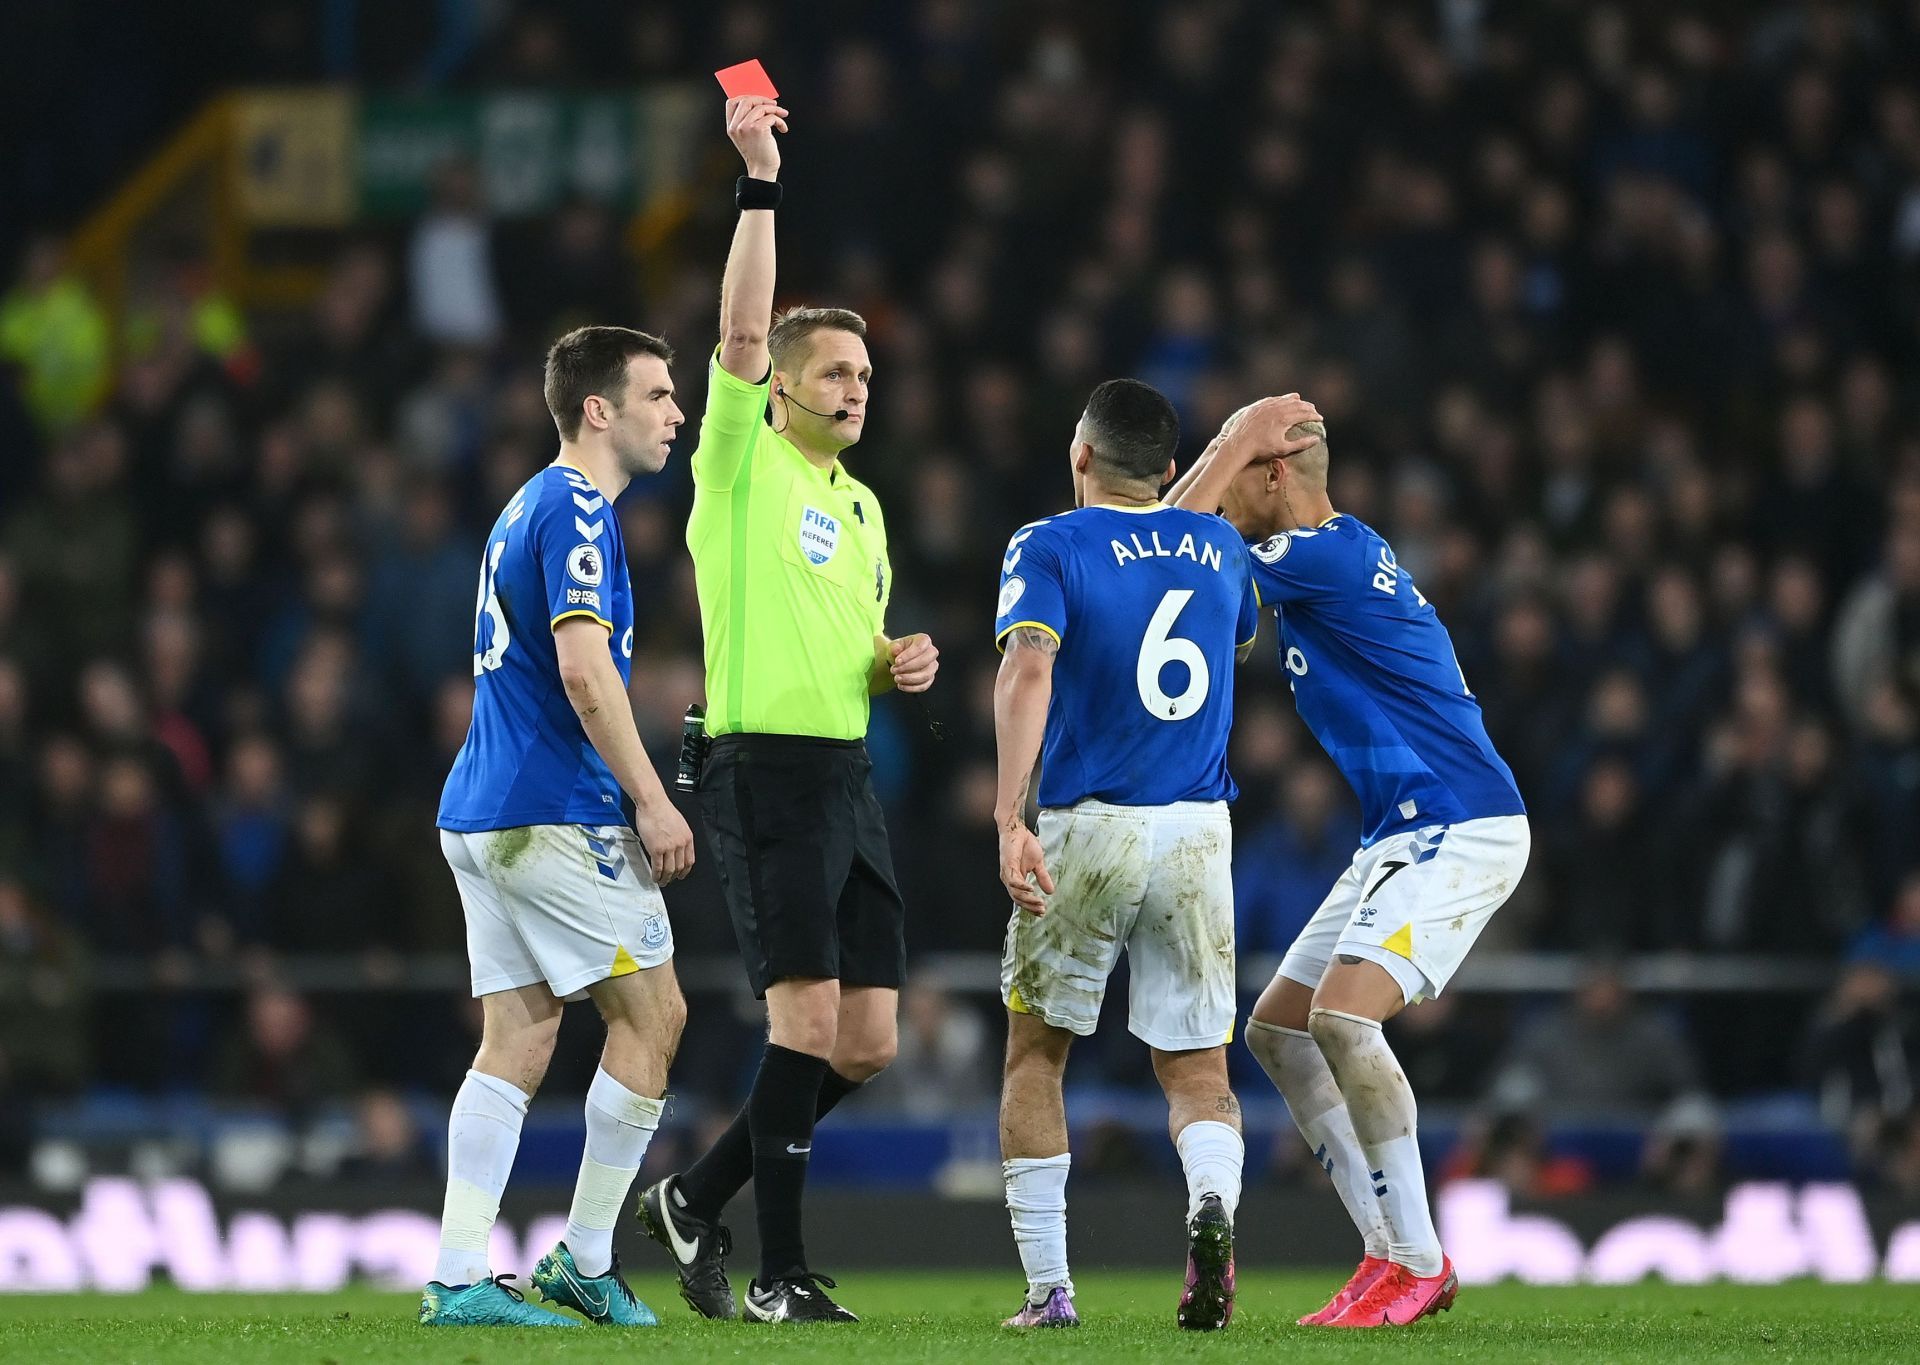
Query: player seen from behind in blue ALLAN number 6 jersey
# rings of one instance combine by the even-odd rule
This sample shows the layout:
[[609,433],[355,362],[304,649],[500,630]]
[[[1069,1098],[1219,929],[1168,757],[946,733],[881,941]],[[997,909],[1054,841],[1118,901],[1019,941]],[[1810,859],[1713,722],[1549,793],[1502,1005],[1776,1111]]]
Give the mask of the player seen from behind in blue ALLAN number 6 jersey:
[[[1294,405],[1294,420],[1317,417]],[[1254,643],[1250,557],[1233,526],[1160,501],[1179,420],[1135,380],[1092,392],[1073,430],[1075,509],[1023,526],[1000,566],[995,687],[1000,879],[1014,898],[1000,1156],[1027,1298],[1008,1327],[1071,1327],[1068,1048],[1127,950],[1129,1027],[1152,1048],[1187,1171],[1179,1323],[1233,1317],[1240,1104],[1233,1037],[1227,776],[1236,651]],[[1311,443],[1311,438],[1298,445]],[[1044,753],[1043,753],[1044,741]],[[1039,831],[1027,787],[1041,760]]]

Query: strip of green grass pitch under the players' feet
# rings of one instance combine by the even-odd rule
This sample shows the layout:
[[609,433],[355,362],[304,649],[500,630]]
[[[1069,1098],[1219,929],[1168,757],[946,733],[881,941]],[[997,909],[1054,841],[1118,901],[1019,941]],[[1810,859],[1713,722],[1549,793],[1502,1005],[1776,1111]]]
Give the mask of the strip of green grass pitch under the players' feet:
[[1292,1327],[1338,1282],[1242,1271],[1238,1315],[1208,1336],[1173,1327],[1173,1273],[1083,1273],[1077,1332],[1014,1334],[1018,1273],[849,1273],[839,1298],[858,1327],[703,1323],[664,1277],[634,1288],[662,1325],[593,1329],[422,1329],[417,1296],[182,1294],[0,1296],[0,1361],[1920,1361],[1920,1288],[1784,1284],[1745,1288],[1469,1288],[1440,1319],[1388,1332]]

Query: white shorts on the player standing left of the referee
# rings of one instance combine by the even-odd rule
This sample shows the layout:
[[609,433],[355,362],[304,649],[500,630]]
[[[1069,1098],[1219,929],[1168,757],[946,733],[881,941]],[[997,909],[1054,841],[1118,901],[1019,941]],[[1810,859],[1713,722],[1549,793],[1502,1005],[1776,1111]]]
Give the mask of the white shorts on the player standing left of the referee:
[[666,900],[624,826],[440,831],[467,910],[474,994],[545,981],[570,996],[674,956]]

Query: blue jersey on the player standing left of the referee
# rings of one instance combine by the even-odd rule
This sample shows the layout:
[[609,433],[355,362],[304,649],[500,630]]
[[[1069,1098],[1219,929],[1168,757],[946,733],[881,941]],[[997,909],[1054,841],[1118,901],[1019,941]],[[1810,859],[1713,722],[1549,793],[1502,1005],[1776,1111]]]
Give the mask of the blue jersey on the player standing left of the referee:
[[620,682],[634,672],[634,589],[620,518],[574,468],[549,465],[493,522],[474,609],[474,720],[440,797],[442,829],[607,826],[620,783],[588,741],[553,628],[607,628]]

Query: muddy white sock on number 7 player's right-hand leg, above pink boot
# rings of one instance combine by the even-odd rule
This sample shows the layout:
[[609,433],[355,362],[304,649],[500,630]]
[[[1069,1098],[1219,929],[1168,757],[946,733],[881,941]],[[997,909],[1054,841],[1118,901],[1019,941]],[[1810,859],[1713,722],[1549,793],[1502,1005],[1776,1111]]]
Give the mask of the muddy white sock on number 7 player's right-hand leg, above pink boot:
[[1354,1135],[1367,1154],[1373,1192],[1386,1213],[1388,1256],[1415,1275],[1440,1273],[1440,1236],[1427,1208],[1427,1173],[1415,1137],[1417,1110],[1379,1019],[1340,1010],[1313,1010],[1308,1029],[1332,1067]]

